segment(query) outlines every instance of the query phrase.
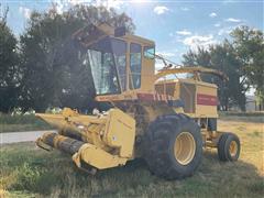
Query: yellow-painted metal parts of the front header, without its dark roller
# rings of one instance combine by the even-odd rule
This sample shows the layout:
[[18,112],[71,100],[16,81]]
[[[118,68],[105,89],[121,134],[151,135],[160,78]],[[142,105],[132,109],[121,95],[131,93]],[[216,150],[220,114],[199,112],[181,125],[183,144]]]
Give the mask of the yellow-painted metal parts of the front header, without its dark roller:
[[[81,116],[77,111],[65,109],[61,114],[37,114],[48,123],[57,122],[59,129],[70,130],[82,135],[84,142],[87,142],[74,155],[74,161],[80,160],[87,162],[96,168],[109,168],[118,165],[124,165],[133,157],[135,140],[135,120],[119,109],[110,109],[101,116]],[[45,133],[36,141],[43,148],[50,146],[42,140],[51,133]],[[53,146],[67,140],[67,136],[57,135],[54,138]]]

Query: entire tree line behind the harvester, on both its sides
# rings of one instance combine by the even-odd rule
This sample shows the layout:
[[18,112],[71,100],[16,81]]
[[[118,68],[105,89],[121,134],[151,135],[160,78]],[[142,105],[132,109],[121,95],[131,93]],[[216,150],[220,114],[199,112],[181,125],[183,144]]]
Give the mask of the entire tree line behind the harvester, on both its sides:
[[[8,12],[8,10],[7,10]],[[131,33],[135,25],[125,13],[92,6],[75,6],[57,13],[32,12],[25,31],[16,37],[7,25],[7,12],[0,16],[0,111],[15,107],[44,111],[48,107],[70,107],[90,110],[95,107],[94,82],[84,52],[70,36],[80,28],[107,22],[125,26]],[[209,75],[204,80],[219,87],[220,109],[239,106],[245,110],[245,92],[255,88],[258,103],[264,105],[263,32],[241,26],[231,40],[209,48],[190,50],[183,58],[186,66],[205,66],[222,70],[228,82]]]

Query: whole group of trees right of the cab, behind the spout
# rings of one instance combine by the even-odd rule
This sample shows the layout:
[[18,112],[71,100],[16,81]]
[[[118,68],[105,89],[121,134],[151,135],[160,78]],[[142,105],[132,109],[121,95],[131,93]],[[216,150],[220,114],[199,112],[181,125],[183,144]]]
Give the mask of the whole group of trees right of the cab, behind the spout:
[[258,110],[264,109],[264,40],[263,32],[249,26],[239,26],[230,33],[230,40],[198,47],[183,57],[186,66],[204,66],[223,72],[229,80],[202,75],[205,81],[218,85],[221,110],[237,106],[245,111],[245,92],[255,89]]

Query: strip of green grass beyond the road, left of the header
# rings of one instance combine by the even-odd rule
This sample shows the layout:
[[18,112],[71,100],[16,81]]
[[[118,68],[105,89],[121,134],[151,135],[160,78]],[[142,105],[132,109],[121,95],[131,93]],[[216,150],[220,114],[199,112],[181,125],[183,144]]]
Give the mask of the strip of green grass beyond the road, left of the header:
[[34,114],[10,116],[0,114],[0,133],[33,130],[50,130],[47,123],[37,119]]

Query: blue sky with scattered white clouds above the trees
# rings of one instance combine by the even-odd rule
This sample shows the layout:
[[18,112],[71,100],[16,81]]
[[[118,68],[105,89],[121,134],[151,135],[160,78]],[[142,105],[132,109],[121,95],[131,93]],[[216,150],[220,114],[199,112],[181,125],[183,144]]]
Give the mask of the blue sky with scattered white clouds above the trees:
[[32,10],[45,11],[52,3],[58,11],[77,3],[103,4],[124,11],[135,25],[138,35],[154,40],[156,52],[180,63],[182,56],[197,45],[207,47],[221,42],[238,25],[263,29],[263,1],[172,1],[172,0],[0,0],[1,10],[9,6],[8,24],[15,35],[26,28]]

